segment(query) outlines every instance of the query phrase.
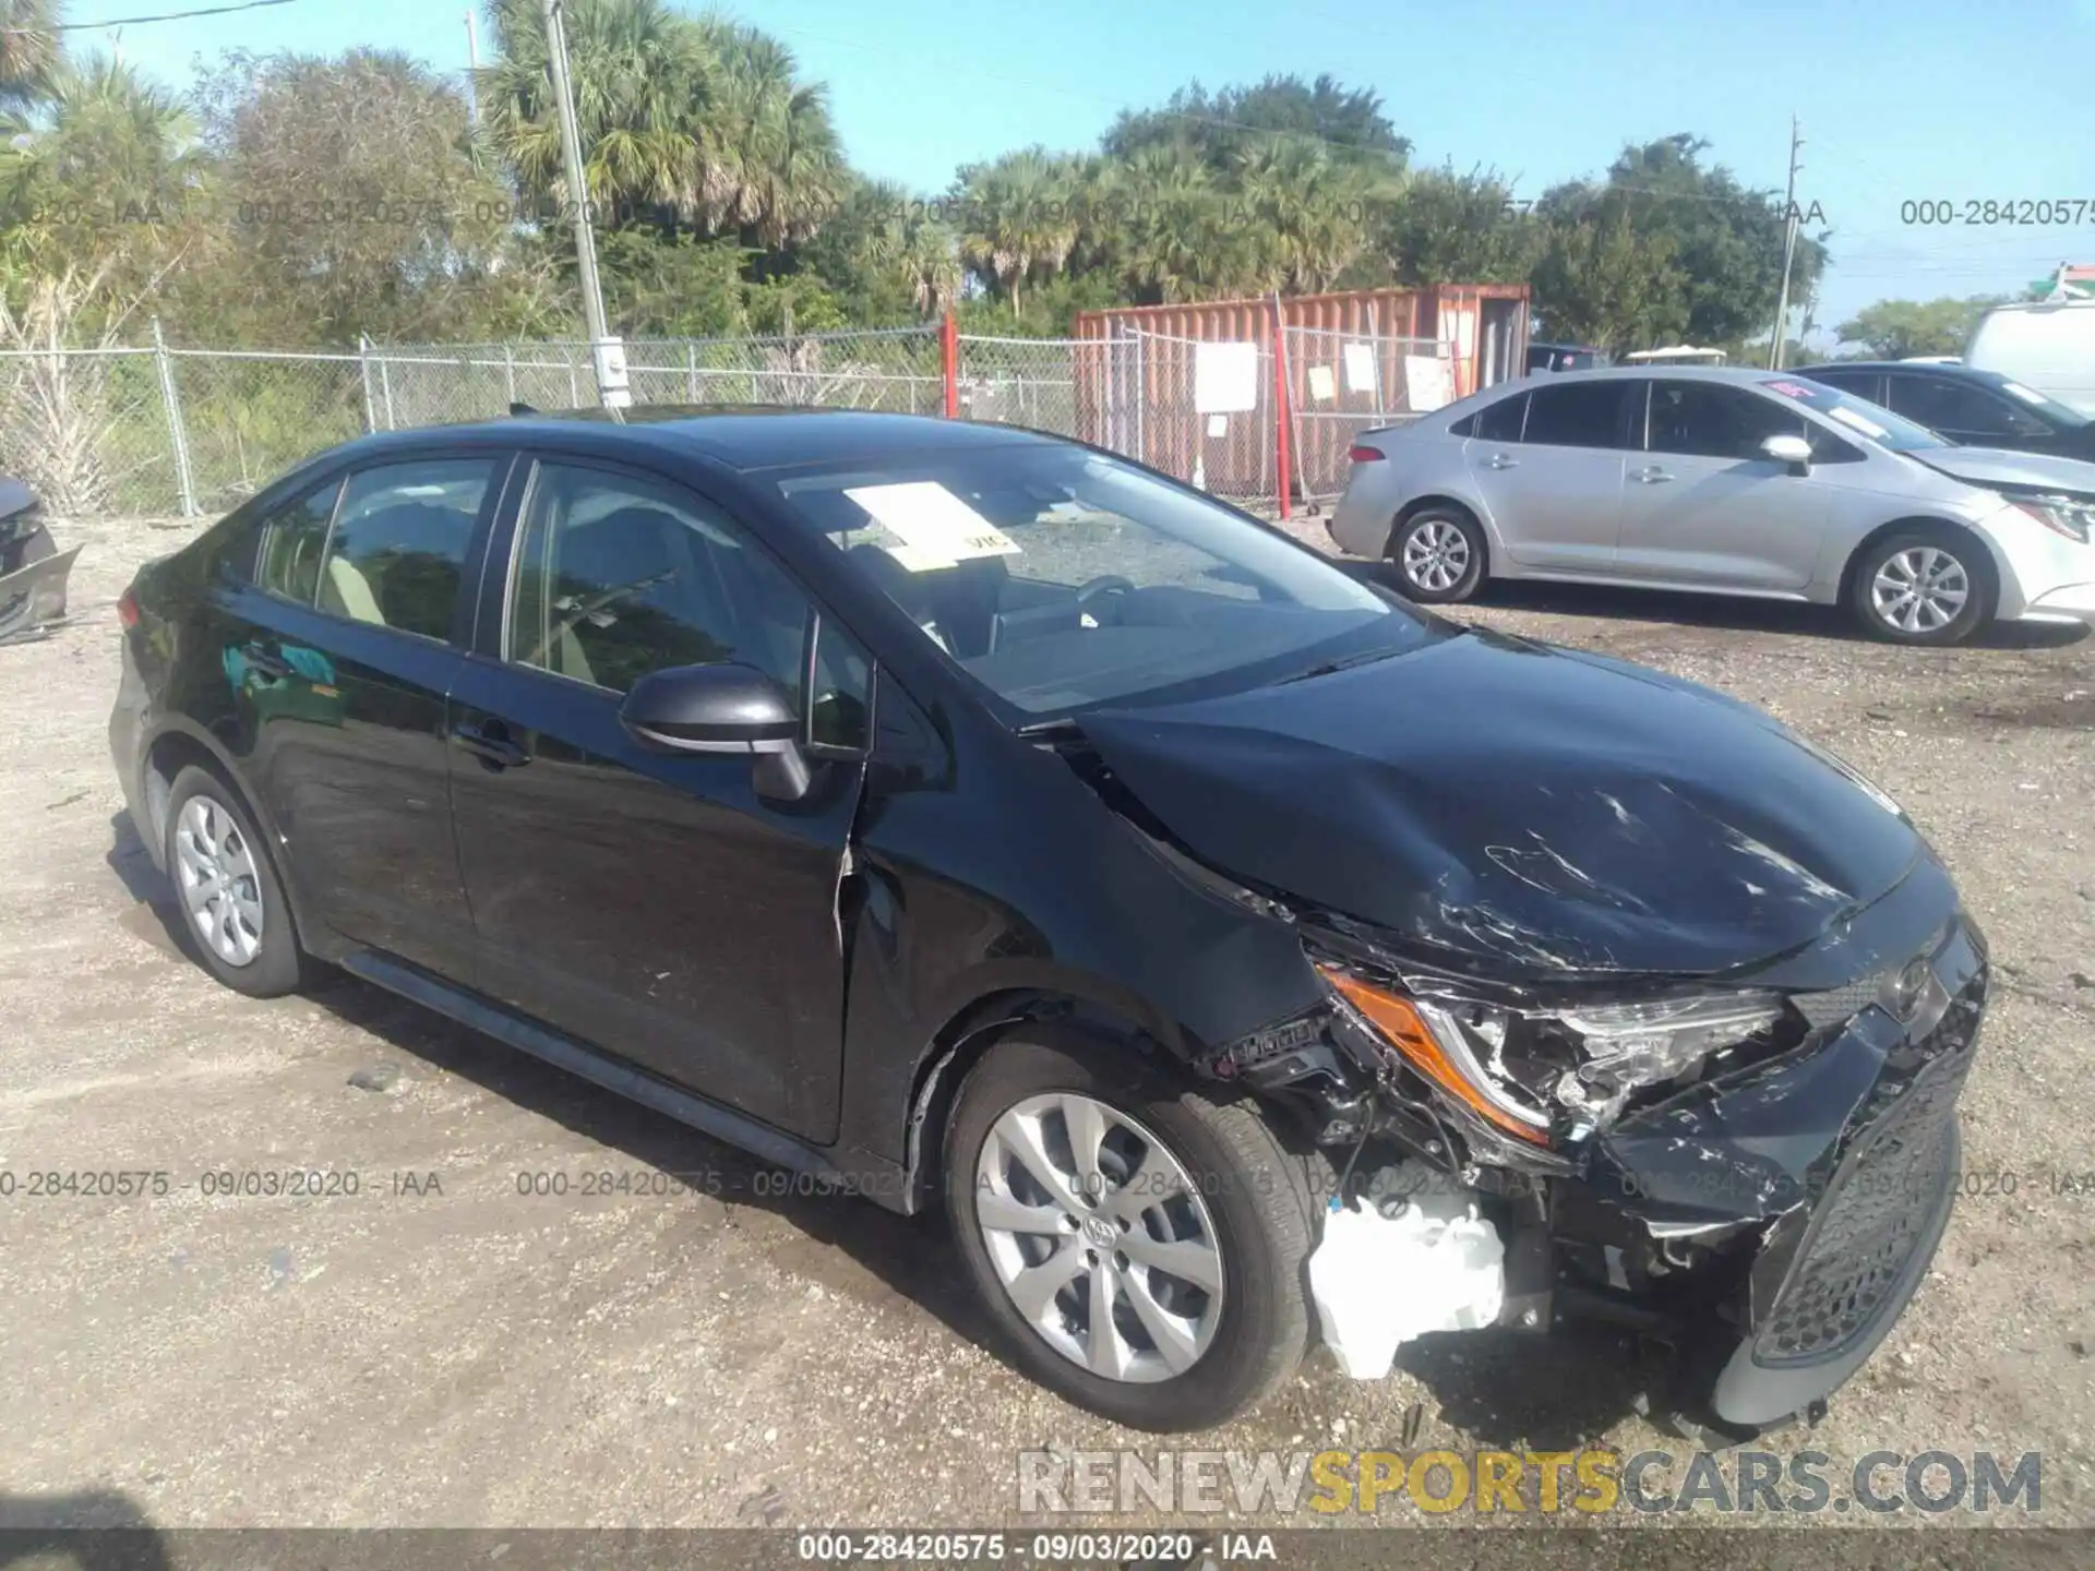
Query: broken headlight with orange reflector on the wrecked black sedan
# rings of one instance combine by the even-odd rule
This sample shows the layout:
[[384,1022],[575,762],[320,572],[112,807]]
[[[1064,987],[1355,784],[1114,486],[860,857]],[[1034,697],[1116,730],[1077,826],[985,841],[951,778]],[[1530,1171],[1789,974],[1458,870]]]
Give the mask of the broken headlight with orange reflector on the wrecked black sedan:
[[1601,1127],[1638,1091],[1691,1081],[1712,1058],[1768,1041],[1785,1014],[1774,993],[1513,1010],[1320,972],[1406,1066],[1538,1146],[1559,1123]]

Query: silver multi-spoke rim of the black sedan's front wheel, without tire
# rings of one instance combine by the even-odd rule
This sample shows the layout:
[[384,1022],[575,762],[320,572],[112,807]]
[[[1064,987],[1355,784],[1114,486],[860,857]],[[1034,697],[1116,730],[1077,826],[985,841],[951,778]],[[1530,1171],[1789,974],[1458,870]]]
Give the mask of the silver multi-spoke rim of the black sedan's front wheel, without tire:
[[1221,1246],[1184,1163],[1075,1091],[1004,1112],[974,1165],[989,1261],[1033,1332],[1108,1380],[1184,1374],[1221,1322]]

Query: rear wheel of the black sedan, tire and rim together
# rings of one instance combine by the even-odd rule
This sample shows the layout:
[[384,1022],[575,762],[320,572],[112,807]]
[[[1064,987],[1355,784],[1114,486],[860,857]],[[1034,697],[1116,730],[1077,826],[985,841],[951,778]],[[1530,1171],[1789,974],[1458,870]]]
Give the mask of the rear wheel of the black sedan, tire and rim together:
[[[168,792],[168,878],[197,961],[237,993],[274,999],[306,980],[268,842],[241,794],[189,765]],[[214,884],[216,894],[203,890]]]

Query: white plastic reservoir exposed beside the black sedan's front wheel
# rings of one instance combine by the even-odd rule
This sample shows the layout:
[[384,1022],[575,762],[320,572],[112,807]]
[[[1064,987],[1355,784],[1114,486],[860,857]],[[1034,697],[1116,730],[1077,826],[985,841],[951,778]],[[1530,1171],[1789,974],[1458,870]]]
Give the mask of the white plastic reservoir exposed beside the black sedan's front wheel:
[[1498,1320],[1506,1246],[1477,1202],[1437,1175],[1383,1211],[1332,1200],[1309,1257],[1309,1297],[1339,1368],[1381,1380],[1414,1336]]

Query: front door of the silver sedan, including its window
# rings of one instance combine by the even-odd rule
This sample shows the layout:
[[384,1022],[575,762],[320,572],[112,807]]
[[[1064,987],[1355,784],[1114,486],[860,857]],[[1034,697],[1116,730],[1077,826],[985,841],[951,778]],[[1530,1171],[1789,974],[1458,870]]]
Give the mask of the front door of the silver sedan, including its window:
[[1766,457],[1770,436],[1821,434],[1795,408],[1724,381],[1651,383],[1649,438],[1628,465],[1626,578],[1802,591],[1818,566],[1827,492]]

